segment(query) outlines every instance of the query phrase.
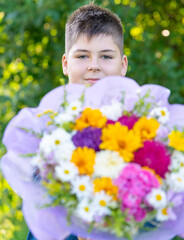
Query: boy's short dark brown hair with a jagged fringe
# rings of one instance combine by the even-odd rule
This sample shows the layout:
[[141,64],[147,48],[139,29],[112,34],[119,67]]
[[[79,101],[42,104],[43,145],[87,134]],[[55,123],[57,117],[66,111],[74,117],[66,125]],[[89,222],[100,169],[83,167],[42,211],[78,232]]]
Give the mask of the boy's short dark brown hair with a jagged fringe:
[[68,18],[65,27],[65,53],[80,34],[89,39],[99,34],[112,36],[123,54],[123,29],[120,18],[106,8],[90,3],[78,8]]

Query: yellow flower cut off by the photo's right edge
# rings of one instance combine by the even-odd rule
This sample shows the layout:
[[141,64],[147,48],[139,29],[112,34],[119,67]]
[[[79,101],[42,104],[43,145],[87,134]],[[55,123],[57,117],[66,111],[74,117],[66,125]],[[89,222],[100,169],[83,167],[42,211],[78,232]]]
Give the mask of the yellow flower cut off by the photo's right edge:
[[178,151],[184,151],[184,133],[180,131],[172,131],[169,134],[169,146],[175,148]]

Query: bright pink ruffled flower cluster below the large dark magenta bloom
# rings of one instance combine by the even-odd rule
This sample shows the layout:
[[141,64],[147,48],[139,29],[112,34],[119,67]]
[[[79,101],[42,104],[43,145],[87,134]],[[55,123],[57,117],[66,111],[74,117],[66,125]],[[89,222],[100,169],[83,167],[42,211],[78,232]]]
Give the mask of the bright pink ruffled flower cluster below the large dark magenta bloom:
[[118,187],[122,211],[128,209],[129,214],[134,216],[136,221],[144,219],[146,211],[141,204],[146,204],[146,195],[152,188],[159,187],[157,177],[152,172],[142,169],[138,164],[130,163],[123,168],[114,184]]

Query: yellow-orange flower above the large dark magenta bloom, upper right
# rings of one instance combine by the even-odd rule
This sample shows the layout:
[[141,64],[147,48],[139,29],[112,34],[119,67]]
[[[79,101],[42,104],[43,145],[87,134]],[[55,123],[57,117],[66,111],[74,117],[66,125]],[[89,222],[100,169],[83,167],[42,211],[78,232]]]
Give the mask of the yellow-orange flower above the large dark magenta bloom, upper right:
[[141,137],[142,141],[145,141],[156,137],[159,126],[160,124],[156,119],[147,119],[144,116],[134,124],[133,130]]

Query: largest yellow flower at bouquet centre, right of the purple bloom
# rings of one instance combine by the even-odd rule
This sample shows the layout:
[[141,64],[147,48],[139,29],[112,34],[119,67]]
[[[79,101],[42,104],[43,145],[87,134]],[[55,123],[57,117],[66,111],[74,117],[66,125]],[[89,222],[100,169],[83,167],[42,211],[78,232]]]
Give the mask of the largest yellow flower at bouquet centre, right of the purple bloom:
[[142,147],[141,138],[119,122],[103,128],[101,140],[100,149],[117,151],[126,162],[132,161],[133,153]]

